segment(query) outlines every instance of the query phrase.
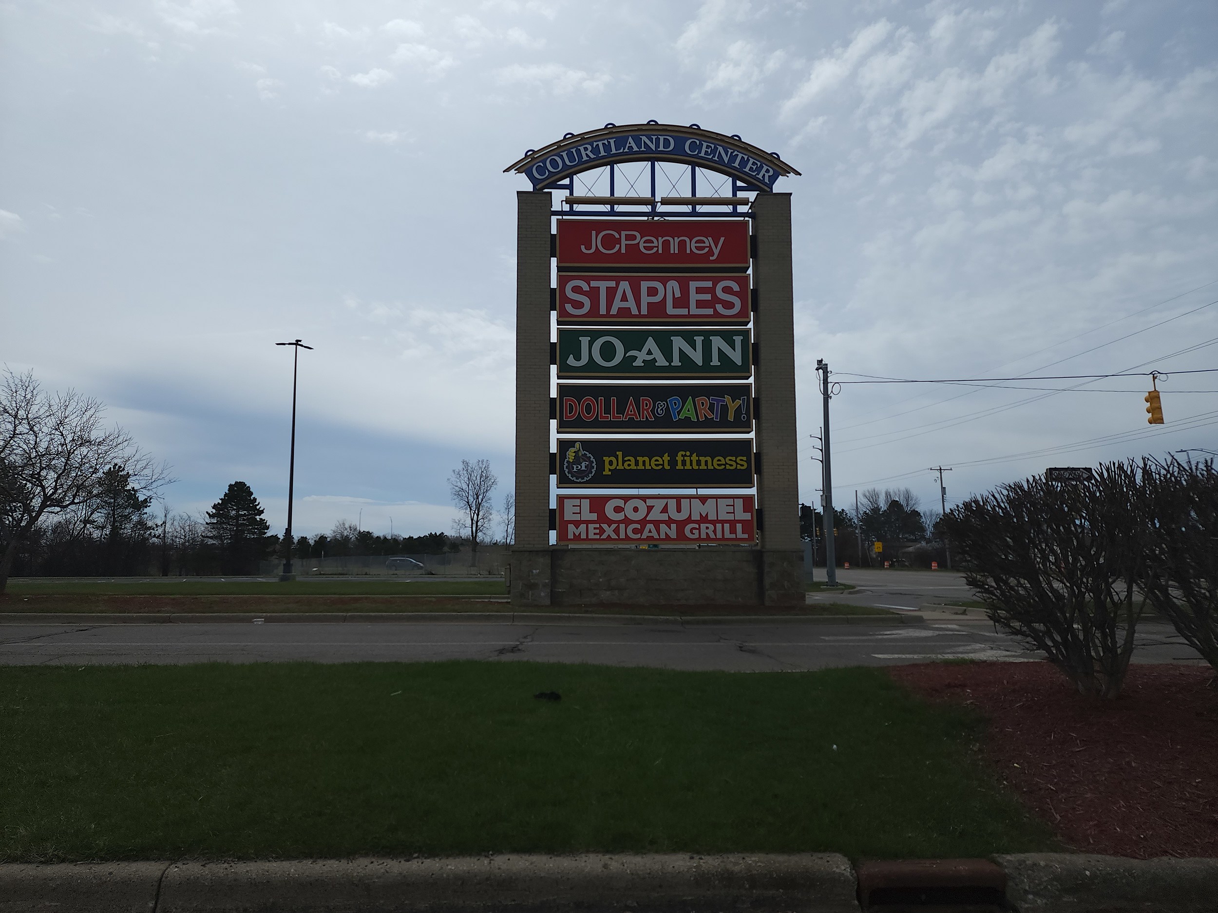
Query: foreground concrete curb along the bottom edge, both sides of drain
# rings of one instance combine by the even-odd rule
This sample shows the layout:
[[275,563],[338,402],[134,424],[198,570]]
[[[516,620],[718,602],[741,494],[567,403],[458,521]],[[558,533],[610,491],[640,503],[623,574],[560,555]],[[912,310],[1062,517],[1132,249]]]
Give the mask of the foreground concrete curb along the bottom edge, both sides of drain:
[[[0,864],[4,913],[235,913],[291,909],[524,913],[628,909],[857,911],[856,884],[979,884],[1005,876],[1019,913],[1212,913],[1218,859],[1019,853],[860,863],[836,853],[480,856],[295,862]],[[870,875],[867,866],[876,872]],[[924,872],[923,872],[924,870]],[[914,872],[917,878],[910,879]],[[946,878],[933,878],[938,872]],[[884,874],[887,873],[887,874]],[[921,874],[920,874],[921,873]],[[877,879],[877,874],[884,880]]]

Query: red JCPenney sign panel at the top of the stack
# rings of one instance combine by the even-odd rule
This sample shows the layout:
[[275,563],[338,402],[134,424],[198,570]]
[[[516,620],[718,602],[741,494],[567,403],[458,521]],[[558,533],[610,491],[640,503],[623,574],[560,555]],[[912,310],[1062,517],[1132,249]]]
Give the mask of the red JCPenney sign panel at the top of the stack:
[[749,267],[743,219],[559,219],[558,268]]

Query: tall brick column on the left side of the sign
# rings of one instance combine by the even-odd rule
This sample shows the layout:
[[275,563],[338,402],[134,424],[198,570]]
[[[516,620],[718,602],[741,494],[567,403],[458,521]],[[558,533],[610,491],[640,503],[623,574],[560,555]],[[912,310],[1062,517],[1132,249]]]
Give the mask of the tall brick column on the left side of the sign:
[[512,601],[549,605],[549,207],[516,194],[516,539]]

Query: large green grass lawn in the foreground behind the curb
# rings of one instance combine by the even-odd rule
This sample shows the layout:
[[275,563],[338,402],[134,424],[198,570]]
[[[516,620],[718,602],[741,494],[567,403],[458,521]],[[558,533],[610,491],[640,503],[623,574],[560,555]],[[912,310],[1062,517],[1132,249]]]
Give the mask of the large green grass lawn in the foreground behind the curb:
[[4,667],[0,859],[1055,848],[980,732],[865,668]]

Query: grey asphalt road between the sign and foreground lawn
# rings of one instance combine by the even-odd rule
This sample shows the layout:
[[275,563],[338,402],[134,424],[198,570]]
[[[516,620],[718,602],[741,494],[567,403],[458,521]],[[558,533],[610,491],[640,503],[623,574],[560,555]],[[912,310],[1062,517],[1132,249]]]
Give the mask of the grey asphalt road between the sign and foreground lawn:
[[[1135,660],[1196,661],[1147,626]],[[734,672],[1035,659],[985,622],[924,624],[553,622],[121,623],[0,626],[0,665],[537,660]]]

